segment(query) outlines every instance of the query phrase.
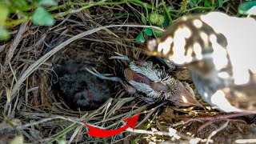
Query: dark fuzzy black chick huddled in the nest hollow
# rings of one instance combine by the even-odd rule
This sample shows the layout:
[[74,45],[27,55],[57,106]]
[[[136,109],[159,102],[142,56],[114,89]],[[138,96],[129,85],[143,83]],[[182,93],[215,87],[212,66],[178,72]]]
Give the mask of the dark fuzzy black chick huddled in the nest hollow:
[[106,82],[87,72],[91,66],[77,62],[63,62],[53,66],[54,89],[72,109],[94,110],[110,98]]

